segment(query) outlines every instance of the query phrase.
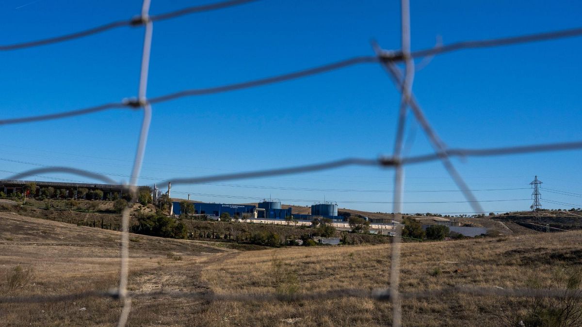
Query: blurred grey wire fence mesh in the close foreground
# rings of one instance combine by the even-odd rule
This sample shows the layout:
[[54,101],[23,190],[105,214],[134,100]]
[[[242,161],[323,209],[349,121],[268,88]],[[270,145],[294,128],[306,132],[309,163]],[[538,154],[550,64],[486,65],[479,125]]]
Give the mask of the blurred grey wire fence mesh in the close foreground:
[[[229,8],[231,6],[243,5],[257,0],[233,0],[211,3],[208,5],[191,6],[173,12],[162,13],[159,15],[149,15],[150,0],[144,0],[142,3],[140,15],[134,16],[128,20],[120,20],[104,24],[102,26],[94,27],[92,29],[78,31],[71,34],[60,35],[57,37],[46,38],[43,40],[21,42],[10,45],[0,45],[0,51],[16,51],[18,49],[40,47],[43,45],[56,44],[58,42],[65,42],[81,37],[88,37],[93,34],[101,33],[106,30],[116,29],[127,26],[144,26],[143,52],[141,56],[141,70],[139,77],[139,90],[136,98],[123,99],[120,102],[111,102],[109,104],[102,104],[92,106],[90,108],[82,108],[73,111],[52,113],[48,115],[26,116],[22,118],[10,118],[0,120],[0,125],[13,125],[19,123],[31,123],[44,120],[53,120],[68,118],[72,116],[87,115],[94,112],[107,111],[110,109],[132,109],[143,111],[143,120],[141,123],[140,137],[137,144],[136,156],[133,162],[133,169],[130,175],[130,182],[127,186],[132,197],[136,200],[137,194],[137,180],[140,176],[141,164],[143,162],[144,152],[147,143],[148,131],[150,129],[152,104],[160,102],[171,101],[182,97],[191,97],[205,94],[225,93],[234,90],[241,90],[244,88],[258,87],[266,84],[279,83],[282,81],[299,79],[301,77],[311,76],[313,74],[320,74],[329,72],[331,70],[342,69],[343,67],[360,65],[364,63],[379,63],[392,78],[396,88],[398,88],[401,98],[398,112],[398,124],[396,129],[395,147],[392,156],[381,158],[346,158],[339,161],[331,161],[317,164],[300,165],[288,168],[276,168],[268,170],[256,170],[243,173],[229,173],[223,175],[204,176],[204,177],[178,177],[171,179],[174,184],[196,184],[217,182],[235,179],[249,179],[253,177],[269,177],[289,175],[294,173],[315,172],[319,170],[327,170],[332,168],[339,168],[343,166],[377,166],[390,167],[395,170],[395,187],[393,190],[393,204],[395,212],[395,220],[401,221],[403,211],[403,184],[404,184],[404,166],[414,163],[422,163],[429,161],[441,161],[448,171],[449,175],[462,191],[466,202],[469,202],[476,213],[482,213],[483,209],[480,201],[473,195],[467,184],[463,181],[460,174],[455,169],[455,166],[450,161],[452,157],[489,157],[495,155],[510,155],[523,154],[532,152],[544,151],[560,151],[560,150],[574,150],[582,148],[582,141],[570,143],[552,143],[552,144],[536,144],[536,145],[520,145],[516,147],[499,147],[499,148],[478,148],[478,149],[462,149],[462,148],[448,148],[446,144],[439,138],[437,132],[432,128],[430,122],[424,115],[423,109],[418,104],[412,92],[412,85],[414,80],[414,58],[422,58],[434,55],[444,54],[445,52],[459,51],[463,49],[485,48],[485,47],[499,47],[513,44],[520,44],[524,42],[536,42],[555,40],[557,38],[576,37],[582,35],[582,28],[551,31],[548,33],[539,33],[531,35],[520,35],[516,37],[496,38],[491,40],[475,40],[457,42],[449,45],[438,44],[434,48],[421,49],[418,51],[411,51],[410,47],[410,9],[409,1],[401,1],[401,31],[402,44],[400,49],[385,50],[374,44],[375,56],[359,56],[350,58],[339,62],[328,63],[310,69],[298,70],[292,73],[280,74],[278,76],[267,77],[265,79],[244,81],[242,83],[225,84],[222,86],[198,88],[191,90],[178,91],[171,94],[161,95],[158,97],[147,97],[147,80],[148,67],[150,66],[150,50],[152,45],[152,31],[153,22],[159,22],[166,19],[172,19],[178,16],[189,15],[192,13],[205,12],[209,10],[218,10]],[[403,63],[403,69],[400,69],[397,63]],[[414,118],[423,128],[427,134],[431,145],[434,148],[434,153],[419,155],[416,157],[402,157],[404,122],[408,109],[410,108]],[[27,176],[33,176],[38,173],[71,173],[90,179],[101,180],[105,183],[114,184],[115,181],[111,178],[86,170],[68,168],[68,167],[44,167],[38,169],[27,170],[26,172],[18,173],[10,176],[9,179],[23,179]],[[320,293],[304,293],[294,294],[293,296],[281,296],[278,294],[203,294],[203,293],[176,293],[176,292],[151,292],[132,294],[127,290],[127,279],[129,273],[129,247],[128,247],[128,230],[129,230],[129,209],[125,209],[122,213],[122,239],[121,239],[121,260],[119,273],[119,286],[110,292],[86,292],[78,294],[65,294],[55,296],[31,296],[31,297],[0,297],[1,303],[37,303],[45,301],[67,301],[77,298],[86,297],[111,297],[118,298],[123,303],[123,309],[119,317],[118,325],[125,326],[129,313],[131,311],[132,297],[143,296],[170,296],[170,297],[187,297],[197,298],[200,300],[229,300],[229,301],[272,301],[272,300],[310,300],[310,299],[327,299],[340,297],[361,297],[372,298],[379,301],[389,301],[392,303],[392,325],[400,326],[402,323],[401,302],[402,299],[407,298],[425,298],[442,296],[444,294],[467,293],[474,295],[498,295],[498,296],[528,296],[528,297],[570,297],[580,298],[581,292],[572,290],[559,289],[501,289],[500,287],[470,287],[457,286],[449,287],[439,290],[425,290],[421,292],[399,292],[399,257],[400,257],[400,228],[396,229],[396,235],[392,238],[392,253],[391,253],[391,268],[390,268],[390,282],[389,289],[381,290],[361,290],[361,289],[340,289],[331,290],[329,292]]]

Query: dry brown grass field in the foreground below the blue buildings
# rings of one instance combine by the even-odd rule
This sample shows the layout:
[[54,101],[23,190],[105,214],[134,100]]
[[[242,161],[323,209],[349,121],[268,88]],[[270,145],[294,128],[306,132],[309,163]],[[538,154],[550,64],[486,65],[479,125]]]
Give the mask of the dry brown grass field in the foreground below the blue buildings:
[[[389,303],[344,297],[300,301],[201,301],[145,293],[301,294],[388,286],[390,246],[287,247],[235,251],[201,241],[131,235],[131,326],[390,325]],[[119,232],[0,214],[0,294],[32,296],[116,286]],[[498,238],[402,246],[402,292],[449,286],[559,287],[580,268],[582,232],[512,233]],[[18,268],[19,267],[19,268]],[[16,270],[15,270],[16,269]],[[16,283],[11,277],[20,276]],[[448,294],[403,302],[405,326],[509,325],[528,298]],[[0,304],[2,326],[111,326],[110,298]],[[505,313],[504,313],[505,312]]]

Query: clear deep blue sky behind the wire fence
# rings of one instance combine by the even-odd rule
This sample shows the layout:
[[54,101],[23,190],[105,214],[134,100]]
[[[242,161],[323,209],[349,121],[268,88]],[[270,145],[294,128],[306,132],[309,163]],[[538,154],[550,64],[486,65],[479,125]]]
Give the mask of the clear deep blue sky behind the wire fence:
[[[151,14],[206,2],[153,0]],[[140,1],[3,0],[0,44],[127,19]],[[412,1],[412,47],[580,27],[576,1]],[[259,1],[154,23],[148,95],[218,86],[373,54],[400,44],[398,1]],[[0,52],[2,118],[116,102],[137,94],[142,27]],[[418,102],[449,147],[501,147],[582,139],[582,38],[467,50],[432,59],[414,80]],[[417,61],[417,64],[421,60]],[[390,154],[399,94],[377,64],[271,86],[156,104],[140,184]],[[129,175],[141,113],[113,110],[2,126],[2,178],[41,165]],[[432,151],[415,123],[411,155]],[[528,183],[582,194],[580,151],[454,162],[485,211],[527,209]],[[20,161],[20,162],[15,162]],[[23,163],[26,162],[26,163]],[[70,175],[51,177],[84,180]],[[149,178],[151,177],[151,178]],[[33,177],[34,178],[34,177]],[[113,176],[113,178],[119,178]],[[42,177],[36,177],[43,180]],[[122,177],[127,180],[126,177]],[[208,202],[281,198],[391,212],[393,172],[345,168],[269,179],[176,186]],[[251,186],[251,187],[249,187]],[[523,189],[522,189],[523,188]],[[311,190],[306,190],[311,189]],[[317,189],[317,190],[313,190]],[[347,190],[378,190],[361,192]],[[406,168],[404,201],[464,201],[441,163]],[[424,192],[432,191],[432,192]],[[186,197],[186,194],[175,193]],[[542,190],[542,198],[582,198]],[[542,202],[544,208],[571,208]],[[470,212],[467,203],[404,204],[404,212]]]

